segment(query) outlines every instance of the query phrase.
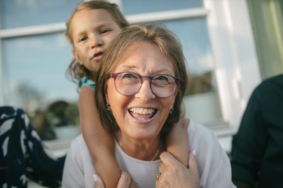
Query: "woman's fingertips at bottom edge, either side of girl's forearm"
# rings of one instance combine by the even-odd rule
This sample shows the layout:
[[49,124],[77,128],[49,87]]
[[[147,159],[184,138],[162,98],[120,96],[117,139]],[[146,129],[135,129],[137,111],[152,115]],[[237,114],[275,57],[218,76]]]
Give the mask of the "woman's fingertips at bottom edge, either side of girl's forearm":
[[[98,174],[93,175],[93,179],[95,182],[95,188],[105,188],[102,179],[99,177]],[[117,188],[137,188],[137,184],[132,180],[129,173],[126,171],[121,172],[121,177],[119,179]]]

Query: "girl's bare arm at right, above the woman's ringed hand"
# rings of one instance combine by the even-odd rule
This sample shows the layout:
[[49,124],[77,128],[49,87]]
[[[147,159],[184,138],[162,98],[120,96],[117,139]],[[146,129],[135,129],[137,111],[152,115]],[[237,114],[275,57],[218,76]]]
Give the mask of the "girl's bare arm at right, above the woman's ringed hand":
[[189,119],[181,117],[173,125],[170,133],[166,136],[167,151],[171,153],[180,163],[188,168],[188,155],[190,151],[188,125]]

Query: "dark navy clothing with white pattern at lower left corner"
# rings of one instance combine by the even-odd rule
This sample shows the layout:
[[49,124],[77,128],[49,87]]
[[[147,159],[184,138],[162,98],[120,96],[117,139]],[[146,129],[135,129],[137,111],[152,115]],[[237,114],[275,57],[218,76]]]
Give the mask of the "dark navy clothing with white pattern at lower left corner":
[[65,156],[49,156],[27,115],[18,108],[0,107],[0,187],[27,187],[27,179],[41,185],[61,185]]

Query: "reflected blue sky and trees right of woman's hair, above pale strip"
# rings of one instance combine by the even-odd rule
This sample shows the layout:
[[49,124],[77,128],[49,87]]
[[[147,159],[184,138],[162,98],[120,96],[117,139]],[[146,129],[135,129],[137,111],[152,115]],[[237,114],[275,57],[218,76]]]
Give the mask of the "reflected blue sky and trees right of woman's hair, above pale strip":
[[205,18],[163,22],[182,42],[187,61],[189,86],[186,95],[215,90],[212,83],[214,64]]

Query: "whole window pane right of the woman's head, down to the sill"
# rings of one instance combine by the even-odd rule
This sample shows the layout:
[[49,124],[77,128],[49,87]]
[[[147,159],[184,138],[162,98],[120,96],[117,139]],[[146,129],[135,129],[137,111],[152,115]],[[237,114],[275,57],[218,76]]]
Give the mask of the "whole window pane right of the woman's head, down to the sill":
[[[215,66],[205,18],[163,22],[182,42],[189,84],[184,104],[186,116],[201,123],[222,120]],[[205,114],[205,116],[203,116]]]

